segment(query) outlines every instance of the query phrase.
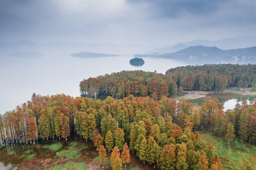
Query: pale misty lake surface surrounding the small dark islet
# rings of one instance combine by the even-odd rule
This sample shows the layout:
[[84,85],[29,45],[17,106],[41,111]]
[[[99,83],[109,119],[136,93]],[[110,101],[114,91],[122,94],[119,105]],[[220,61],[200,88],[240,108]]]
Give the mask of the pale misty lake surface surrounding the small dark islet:
[[[32,94],[67,94],[79,96],[79,82],[89,77],[111,74],[122,70],[144,70],[163,73],[169,68],[198,64],[191,60],[177,61],[163,58],[143,58],[145,64],[129,64],[133,57],[77,58],[70,54],[77,51],[40,51],[42,57],[11,57],[0,54],[0,114],[13,110],[17,105],[31,100]],[[220,61],[221,63],[235,63]]]

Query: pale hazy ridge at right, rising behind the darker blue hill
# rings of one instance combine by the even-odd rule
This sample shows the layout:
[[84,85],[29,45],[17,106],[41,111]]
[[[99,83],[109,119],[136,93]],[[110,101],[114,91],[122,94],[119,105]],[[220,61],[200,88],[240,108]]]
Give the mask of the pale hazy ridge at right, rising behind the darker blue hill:
[[150,51],[145,51],[145,53],[172,53],[176,51],[183,50],[190,46],[206,46],[206,47],[218,47],[222,50],[247,48],[256,46],[256,36],[237,36],[233,38],[225,38],[217,41],[209,40],[194,40],[191,42],[182,42],[174,45],[164,46],[161,48],[153,49]]

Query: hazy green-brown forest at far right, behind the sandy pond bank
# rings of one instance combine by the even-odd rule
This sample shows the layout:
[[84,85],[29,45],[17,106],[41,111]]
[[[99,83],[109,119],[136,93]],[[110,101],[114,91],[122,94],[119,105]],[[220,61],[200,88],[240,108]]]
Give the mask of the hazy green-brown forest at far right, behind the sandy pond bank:
[[183,90],[215,90],[222,92],[228,87],[256,89],[256,65],[205,64],[183,66],[166,71]]

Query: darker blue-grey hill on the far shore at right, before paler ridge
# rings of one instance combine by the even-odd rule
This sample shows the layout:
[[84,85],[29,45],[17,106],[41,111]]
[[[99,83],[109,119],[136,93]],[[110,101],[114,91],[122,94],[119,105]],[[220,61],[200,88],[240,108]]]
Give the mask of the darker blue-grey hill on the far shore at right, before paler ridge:
[[173,59],[256,59],[256,47],[221,50],[217,47],[191,46],[172,53],[151,53],[135,57],[161,57]]

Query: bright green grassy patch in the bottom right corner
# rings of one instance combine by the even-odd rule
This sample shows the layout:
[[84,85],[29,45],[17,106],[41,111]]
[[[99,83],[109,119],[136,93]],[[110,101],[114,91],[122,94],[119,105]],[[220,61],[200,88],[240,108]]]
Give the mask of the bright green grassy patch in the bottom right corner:
[[256,170],[256,146],[245,142],[242,144],[238,139],[238,145],[235,139],[228,145],[224,139],[212,133],[201,133],[200,136],[216,147],[215,153],[221,157],[223,170]]

